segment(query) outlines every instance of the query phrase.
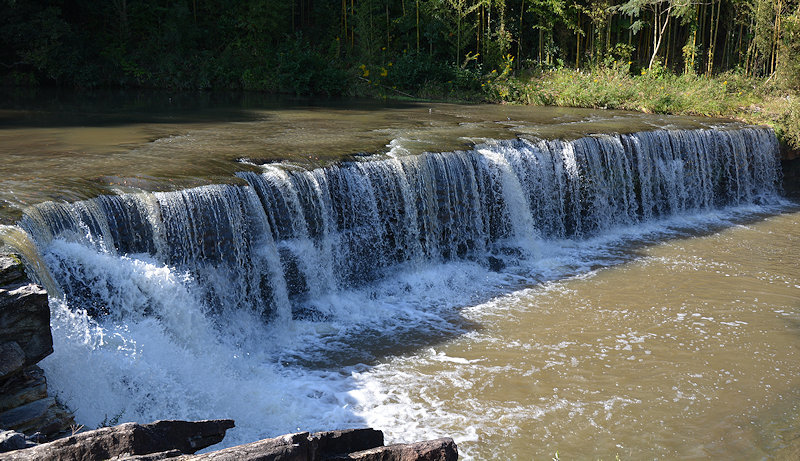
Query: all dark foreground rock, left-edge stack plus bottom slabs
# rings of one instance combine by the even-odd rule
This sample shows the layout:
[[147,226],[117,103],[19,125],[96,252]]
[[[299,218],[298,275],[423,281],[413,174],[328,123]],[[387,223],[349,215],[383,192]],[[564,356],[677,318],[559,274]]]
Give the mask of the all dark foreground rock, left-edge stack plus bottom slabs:
[[[452,439],[384,445],[374,429],[288,434],[204,454],[234,427],[229,419],[125,423],[77,432],[74,417],[48,396],[36,364],[53,352],[47,292],[21,259],[0,253],[0,461],[453,461]],[[44,443],[41,443],[44,442]]]

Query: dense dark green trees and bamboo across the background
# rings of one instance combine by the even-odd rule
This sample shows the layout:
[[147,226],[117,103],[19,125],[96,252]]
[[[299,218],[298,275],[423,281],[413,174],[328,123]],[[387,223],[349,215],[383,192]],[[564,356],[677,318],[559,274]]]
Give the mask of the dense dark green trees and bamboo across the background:
[[23,85],[469,90],[624,61],[796,86],[799,42],[800,0],[0,0],[0,78]]

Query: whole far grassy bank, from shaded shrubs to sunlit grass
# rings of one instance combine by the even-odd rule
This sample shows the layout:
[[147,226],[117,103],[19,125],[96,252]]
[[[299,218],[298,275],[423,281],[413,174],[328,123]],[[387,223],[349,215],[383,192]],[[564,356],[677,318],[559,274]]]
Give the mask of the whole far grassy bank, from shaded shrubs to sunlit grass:
[[[414,97],[467,102],[622,109],[647,113],[727,117],[771,126],[784,148],[800,150],[800,92],[771,79],[727,72],[677,75],[662,67],[631,72],[630,63],[592,69],[484,73],[451,71],[427,81],[408,79],[392,66],[353,71],[359,96]],[[397,76],[401,74],[401,76]],[[415,82],[409,85],[409,81]]]

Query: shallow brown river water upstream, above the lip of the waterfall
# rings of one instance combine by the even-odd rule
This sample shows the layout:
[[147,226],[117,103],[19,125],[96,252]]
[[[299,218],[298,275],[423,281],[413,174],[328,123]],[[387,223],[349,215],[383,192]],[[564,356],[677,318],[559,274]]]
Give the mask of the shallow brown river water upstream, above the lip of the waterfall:
[[[717,119],[552,107],[314,101],[205,93],[79,97],[0,104],[0,223],[25,206],[100,193],[243,183],[238,159],[324,165],[353,154],[468,148],[515,136],[734,125]],[[13,102],[13,103],[12,103]]]

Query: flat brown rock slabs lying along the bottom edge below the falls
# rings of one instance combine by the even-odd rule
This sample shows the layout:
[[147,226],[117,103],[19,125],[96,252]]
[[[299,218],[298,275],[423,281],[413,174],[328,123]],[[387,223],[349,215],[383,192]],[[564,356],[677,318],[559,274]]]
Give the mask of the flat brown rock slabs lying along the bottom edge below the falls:
[[6,453],[0,460],[125,460],[125,461],[454,461],[452,439],[384,445],[374,429],[300,432],[196,455],[220,442],[234,423],[213,421],[156,421],[125,423],[82,432],[53,442]]

